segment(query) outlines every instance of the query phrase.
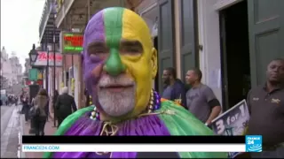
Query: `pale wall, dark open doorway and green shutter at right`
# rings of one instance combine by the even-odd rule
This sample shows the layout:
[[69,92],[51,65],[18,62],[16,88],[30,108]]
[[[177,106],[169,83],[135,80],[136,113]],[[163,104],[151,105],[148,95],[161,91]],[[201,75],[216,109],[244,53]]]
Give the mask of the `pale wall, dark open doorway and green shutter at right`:
[[227,110],[246,98],[250,87],[264,84],[273,58],[284,57],[284,2],[197,2],[203,81]]

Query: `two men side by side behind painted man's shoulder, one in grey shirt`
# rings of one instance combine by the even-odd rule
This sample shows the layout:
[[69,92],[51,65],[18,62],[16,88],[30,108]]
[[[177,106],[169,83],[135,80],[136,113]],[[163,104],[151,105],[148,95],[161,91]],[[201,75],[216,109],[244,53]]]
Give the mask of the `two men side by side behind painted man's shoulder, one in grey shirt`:
[[220,114],[221,104],[212,89],[201,83],[202,72],[199,68],[186,72],[185,84],[177,79],[176,70],[172,67],[162,72],[162,79],[164,82],[162,98],[177,102],[205,125],[210,125],[211,121]]

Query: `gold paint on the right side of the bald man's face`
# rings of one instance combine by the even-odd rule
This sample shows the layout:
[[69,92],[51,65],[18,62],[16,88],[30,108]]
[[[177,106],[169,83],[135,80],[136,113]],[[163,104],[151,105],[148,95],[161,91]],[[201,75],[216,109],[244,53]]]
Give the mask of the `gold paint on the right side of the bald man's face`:
[[143,50],[140,54],[121,52],[126,73],[137,84],[136,106],[130,116],[136,116],[146,109],[152,89],[152,82],[157,73],[157,51],[153,47],[150,30],[146,22],[130,10],[124,10],[122,17],[122,41],[140,42]]

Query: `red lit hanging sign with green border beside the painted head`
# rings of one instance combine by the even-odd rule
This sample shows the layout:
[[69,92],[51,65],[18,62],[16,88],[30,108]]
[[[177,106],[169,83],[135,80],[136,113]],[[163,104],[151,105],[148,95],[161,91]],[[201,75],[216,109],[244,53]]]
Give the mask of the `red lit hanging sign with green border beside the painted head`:
[[80,54],[83,51],[83,34],[61,32],[60,48],[62,54]]

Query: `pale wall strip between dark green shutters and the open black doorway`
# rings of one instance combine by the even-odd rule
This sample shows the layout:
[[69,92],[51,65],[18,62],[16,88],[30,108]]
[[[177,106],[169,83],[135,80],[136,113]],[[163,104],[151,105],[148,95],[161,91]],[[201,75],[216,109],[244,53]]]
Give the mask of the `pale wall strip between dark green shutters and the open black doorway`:
[[[198,4],[198,21],[199,21],[199,43],[203,46],[200,50],[200,67],[203,72],[202,82],[209,85],[222,102],[222,87],[213,76],[221,70],[220,57],[220,40],[219,40],[219,14],[214,5],[217,0],[199,0]],[[221,75],[221,74],[220,74]],[[220,77],[221,80],[221,77]]]

